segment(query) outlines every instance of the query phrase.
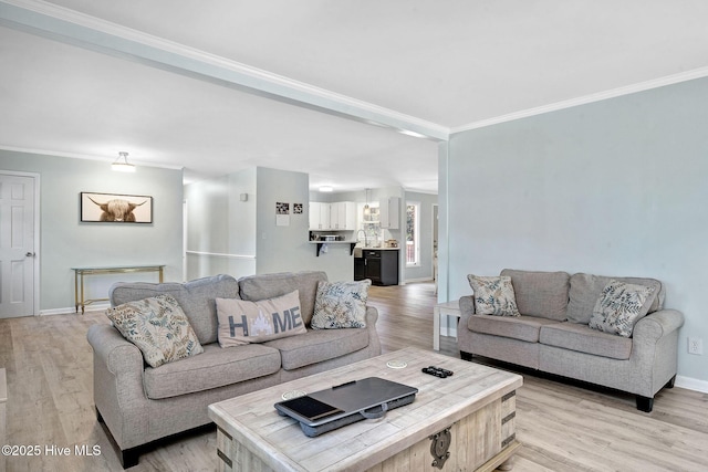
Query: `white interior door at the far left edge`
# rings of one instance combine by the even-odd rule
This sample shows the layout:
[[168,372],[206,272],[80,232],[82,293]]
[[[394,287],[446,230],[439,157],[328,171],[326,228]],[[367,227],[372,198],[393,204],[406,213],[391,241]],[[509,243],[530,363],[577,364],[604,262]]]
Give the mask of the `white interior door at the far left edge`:
[[0,317],[34,314],[34,186],[0,174]]

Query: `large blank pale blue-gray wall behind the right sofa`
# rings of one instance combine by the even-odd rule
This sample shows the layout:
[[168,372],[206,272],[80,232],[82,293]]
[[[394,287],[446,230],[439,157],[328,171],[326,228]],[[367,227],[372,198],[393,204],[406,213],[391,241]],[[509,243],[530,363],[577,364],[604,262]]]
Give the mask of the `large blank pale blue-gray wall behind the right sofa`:
[[679,376],[708,385],[687,354],[687,336],[708,342],[707,104],[701,78],[454,135],[440,297],[504,268],[656,277],[686,316]]

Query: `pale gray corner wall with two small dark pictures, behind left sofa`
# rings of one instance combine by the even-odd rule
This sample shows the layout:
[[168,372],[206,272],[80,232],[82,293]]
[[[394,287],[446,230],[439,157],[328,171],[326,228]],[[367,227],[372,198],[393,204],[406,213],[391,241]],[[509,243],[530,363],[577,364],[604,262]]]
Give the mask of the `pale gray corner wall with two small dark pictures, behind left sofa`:
[[[309,241],[309,185],[306,174],[258,167],[186,186],[188,251],[226,254],[189,254],[189,279],[316,270],[353,280],[348,244],[329,244],[317,258]],[[290,203],[289,225],[277,225],[277,202]],[[293,203],[303,203],[303,213],[294,214]]]

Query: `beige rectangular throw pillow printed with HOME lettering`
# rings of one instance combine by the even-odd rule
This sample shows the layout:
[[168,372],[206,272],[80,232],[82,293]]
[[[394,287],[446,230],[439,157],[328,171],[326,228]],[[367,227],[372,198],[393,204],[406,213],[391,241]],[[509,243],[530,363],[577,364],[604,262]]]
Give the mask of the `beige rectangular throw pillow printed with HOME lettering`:
[[258,302],[217,298],[217,317],[221,347],[264,343],[308,332],[296,290]]

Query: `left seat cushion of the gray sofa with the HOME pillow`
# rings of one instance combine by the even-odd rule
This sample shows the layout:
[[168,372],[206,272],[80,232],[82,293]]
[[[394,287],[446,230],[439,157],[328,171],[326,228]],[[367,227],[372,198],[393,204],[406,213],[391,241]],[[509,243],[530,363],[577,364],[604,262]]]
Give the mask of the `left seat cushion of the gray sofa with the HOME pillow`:
[[[280,353],[261,344],[222,349],[217,343],[179,363],[146,368],[145,392],[154,400],[264,377],[280,370]],[[206,407],[205,407],[206,408]]]

